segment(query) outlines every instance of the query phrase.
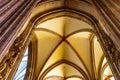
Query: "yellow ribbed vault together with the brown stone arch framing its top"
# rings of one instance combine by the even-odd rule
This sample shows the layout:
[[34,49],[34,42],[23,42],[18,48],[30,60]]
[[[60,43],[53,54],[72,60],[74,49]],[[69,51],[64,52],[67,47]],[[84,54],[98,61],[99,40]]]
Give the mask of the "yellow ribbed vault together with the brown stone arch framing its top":
[[102,80],[108,75],[111,77],[95,26],[88,17],[97,18],[95,13],[90,0],[45,0],[33,9],[20,33],[26,25],[34,26],[35,79]]

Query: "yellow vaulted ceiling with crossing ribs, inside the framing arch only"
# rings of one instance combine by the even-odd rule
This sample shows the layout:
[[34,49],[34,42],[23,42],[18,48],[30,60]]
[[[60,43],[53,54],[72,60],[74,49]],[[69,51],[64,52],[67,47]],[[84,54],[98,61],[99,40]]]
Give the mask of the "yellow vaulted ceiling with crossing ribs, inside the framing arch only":
[[37,39],[35,74],[38,79],[92,80],[102,77],[106,60],[93,26],[62,16],[37,25],[34,35]]

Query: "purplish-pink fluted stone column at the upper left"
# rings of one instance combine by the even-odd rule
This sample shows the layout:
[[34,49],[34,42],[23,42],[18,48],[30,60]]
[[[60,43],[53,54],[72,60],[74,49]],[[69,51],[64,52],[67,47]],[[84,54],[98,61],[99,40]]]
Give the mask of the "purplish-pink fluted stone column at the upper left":
[[0,62],[39,0],[0,0]]

